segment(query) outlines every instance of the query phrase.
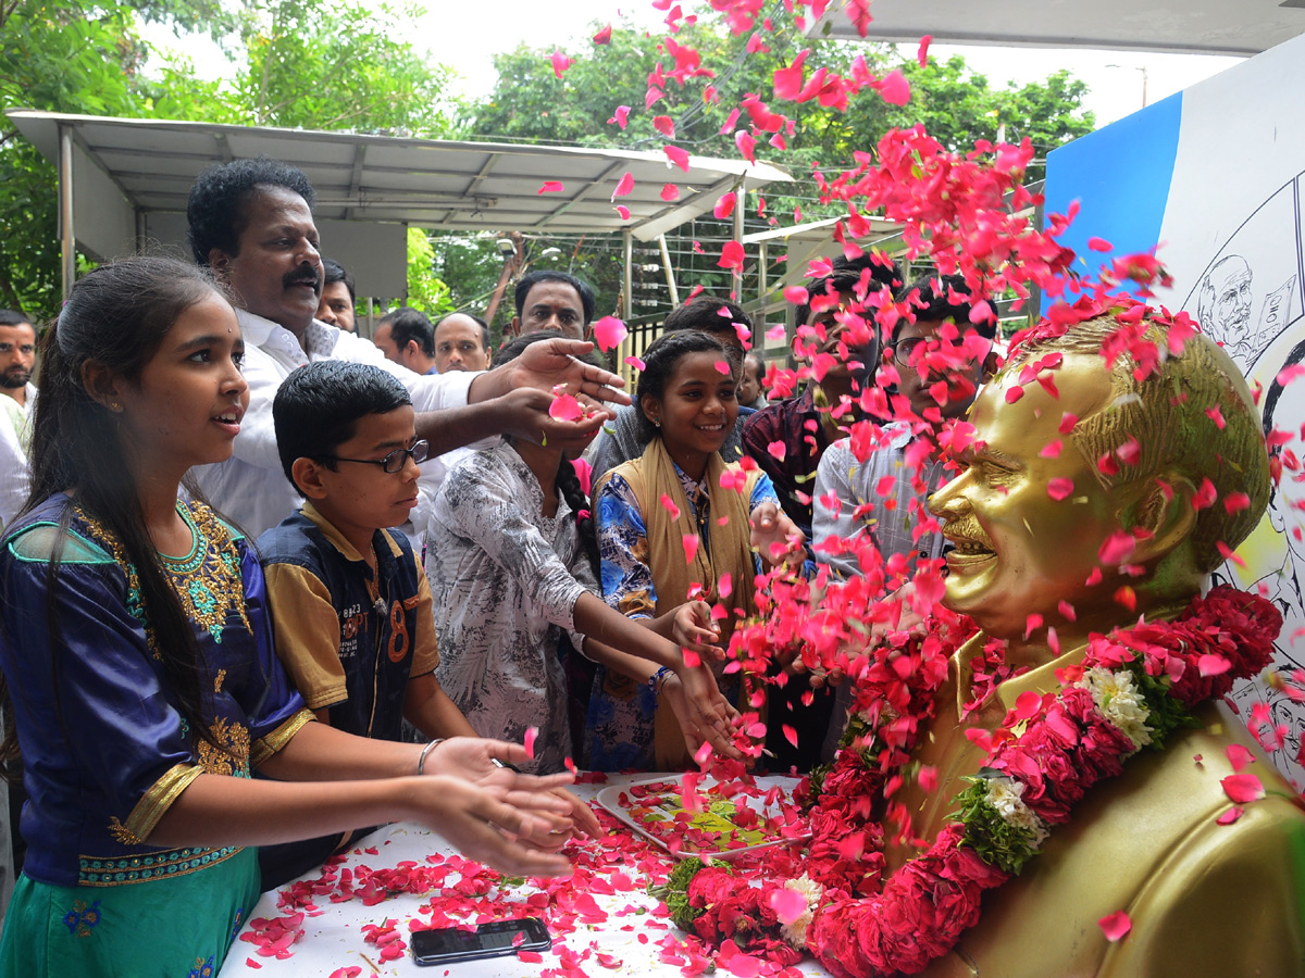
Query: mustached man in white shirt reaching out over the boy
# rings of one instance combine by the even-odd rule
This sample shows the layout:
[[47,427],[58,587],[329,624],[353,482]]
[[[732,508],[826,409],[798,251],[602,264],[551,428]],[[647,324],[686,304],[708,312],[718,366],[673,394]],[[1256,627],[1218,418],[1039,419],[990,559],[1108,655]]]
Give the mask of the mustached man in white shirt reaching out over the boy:
[[299,170],[261,158],[207,168],[187,206],[196,261],[232,292],[249,385],[234,456],[194,476],[247,533],[261,533],[299,507],[277,455],[271,402],[290,372],[311,361],[375,364],[398,377],[412,395],[416,437],[429,442],[431,455],[505,433],[532,441],[578,437],[609,417],[607,411],[581,421],[549,417],[557,385],[591,400],[629,400],[608,386],[622,386],[615,374],[574,359],[590,349],[587,343],[536,343],[531,351],[538,353],[488,373],[422,376],[390,363],[371,342],[317,322],[322,266],[313,198]]

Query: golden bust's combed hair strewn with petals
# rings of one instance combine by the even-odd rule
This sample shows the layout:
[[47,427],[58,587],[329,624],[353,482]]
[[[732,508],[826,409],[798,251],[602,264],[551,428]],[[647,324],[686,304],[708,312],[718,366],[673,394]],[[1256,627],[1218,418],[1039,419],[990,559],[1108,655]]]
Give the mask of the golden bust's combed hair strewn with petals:
[[[1101,317],[1062,336],[1032,340],[1014,351],[1004,373],[1051,352],[1101,356],[1103,344],[1120,329],[1113,317]],[[1198,488],[1208,479],[1219,496],[1197,512],[1191,542],[1195,561],[1210,572],[1224,559],[1218,544],[1236,548],[1268,503],[1268,452],[1259,411],[1241,370],[1208,336],[1189,336],[1182,352],[1173,355],[1169,327],[1151,319],[1144,339],[1156,344],[1159,366],[1138,381],[1137,363],[1126,351],[1120,353],[1108,369],[1108,399],[1078,420],[1070,441],[1105,489],[1163,477],[1165,469],[1185,475]],[[1212,408],[1223,417],[1221,429],[1207,413]],[[1103,472],[1099,459],[1130,437],[1141,447],[1138,463],[1121,462],[1116,475]],[[1245,493],[1250,505],[1229,512],[1224,502],[1233,493]]]

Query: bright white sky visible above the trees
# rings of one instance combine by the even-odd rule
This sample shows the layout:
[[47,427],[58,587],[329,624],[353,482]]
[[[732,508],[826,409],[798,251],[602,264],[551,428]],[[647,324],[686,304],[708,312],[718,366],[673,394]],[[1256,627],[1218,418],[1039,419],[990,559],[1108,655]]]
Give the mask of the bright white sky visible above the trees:
[[[560,46],[579,51],[589,43],[594,21],[620,21],[625,14],[650,30],[664,29],[664,13],[649,0],[492,0],[491,4],[466,0],[428,0],[418,40],[427,39],[433,60],[450,65],[459,76],[461,94],[487,95],[493,86],[493,56],[510,51],[521,42],[531,47]],[[688,4],[686,4],[688,5]],[[873,9],[873,8],[872,8]],[[487,12],[492,10],[492,23]],[[163,29],[147,29],[146,37],[161,46],[176,46]],[[202,74],[230,73],[217,48],[191,38],[185,52]],[[930,53],[946,59],[953,52],[988,77],[993,87],[1010,82],[1024,85],[1045,80],[1058,68],[1088,83],[1091,93],[1084,108],[1096,115],[1098,125],[1121,119],[1142,108],[1143,78],[1147,102],[1155,103],[1237,64],[1241,59],[1212,55],[1159,55],[1122,51],[1074,51],[1048,48],[953,47],[934,44]],[[903,50],[907,57],[915,48]],[[1143,72],[1144,69],[1144,72]],[[542,63],[540,70],[549,70]]]

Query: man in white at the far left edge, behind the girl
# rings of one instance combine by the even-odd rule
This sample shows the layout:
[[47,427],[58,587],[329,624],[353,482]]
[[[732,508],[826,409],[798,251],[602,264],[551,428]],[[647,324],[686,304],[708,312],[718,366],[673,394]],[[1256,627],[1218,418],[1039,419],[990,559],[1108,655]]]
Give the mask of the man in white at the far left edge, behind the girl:
[[0,309],[0,529],[27,501],[31,467],[31,420],[37,387],[37,331],[27,317]]

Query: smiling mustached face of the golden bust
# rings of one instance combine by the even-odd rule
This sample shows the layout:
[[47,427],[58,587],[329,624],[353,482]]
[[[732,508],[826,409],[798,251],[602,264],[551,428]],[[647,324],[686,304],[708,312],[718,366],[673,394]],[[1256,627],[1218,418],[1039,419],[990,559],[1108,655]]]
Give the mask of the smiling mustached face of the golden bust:
[[[1081,625],[1101,617],[1113,623],[1122,612],[1112,600],[1117,579],[1087,582],[1098,576],[1101,544],[1120,527],[1124,493],[1103,489],[1058,430],[1066,412],[1084,417],[1098,409],[1109,398],[1109,379],[1098,356],[1066,356],[1053,376],[1058,399],[1030,383],[1007,403],[1018,370],[984,387],[970,416],[981,443],[964,452],[960,473],[929,501],[955,544],[944,602],[1000,638],[1022,638],[1031,614],[1065,631],[1061,601]],[[1070,480],[1073,492],[1052,498],[1052,480]]]

